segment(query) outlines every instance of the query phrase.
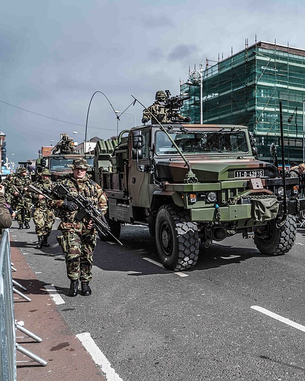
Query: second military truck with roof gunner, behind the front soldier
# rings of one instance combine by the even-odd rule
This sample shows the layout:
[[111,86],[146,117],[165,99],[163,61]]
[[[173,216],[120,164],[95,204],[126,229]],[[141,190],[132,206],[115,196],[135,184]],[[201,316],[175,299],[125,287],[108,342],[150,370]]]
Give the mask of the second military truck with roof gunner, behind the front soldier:
[[[54,146],[50,155],[43,156],[36,160],[36,174],[42,171],[43,168],[48,168],[51,172],[51,180],[60,181],[67,174],[71,173],[69,165],[73,159],[83,158],[84,154],[75,152],[73,139],[66,132],[60,134],[60,141]],[[86,155],[88,164],[93,168],[94,155]],[[88,174],[93,174],[93,169],[88,170]]]

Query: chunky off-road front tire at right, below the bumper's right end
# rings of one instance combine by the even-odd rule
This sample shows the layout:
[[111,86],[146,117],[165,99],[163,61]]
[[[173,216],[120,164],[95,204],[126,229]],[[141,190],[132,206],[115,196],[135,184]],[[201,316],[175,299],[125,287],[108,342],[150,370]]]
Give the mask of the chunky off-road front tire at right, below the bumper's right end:
[[[279,223],[279,222],[278,222]],[[289,214],[286,217],[285,224],[278,227],[276,220],[268,221],[267,228],[269,234],[267,237],[261,237],[254,234],[254,243],[262,254],[283,255],[289,252],[293,247],[296,238],[296,217]]]

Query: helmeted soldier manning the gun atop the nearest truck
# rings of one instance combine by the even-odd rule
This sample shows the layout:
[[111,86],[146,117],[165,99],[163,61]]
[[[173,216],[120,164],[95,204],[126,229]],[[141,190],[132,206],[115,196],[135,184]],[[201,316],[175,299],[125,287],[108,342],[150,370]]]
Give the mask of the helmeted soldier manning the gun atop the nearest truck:
[[168,108],[165,107],[165,92],[163,90],[157,91],[155,99],[156,101],[143,111],[142,123],[147,123],[149,119],[151,119],[151,124],[158,122],[170,123],[171,118],[168,115]]

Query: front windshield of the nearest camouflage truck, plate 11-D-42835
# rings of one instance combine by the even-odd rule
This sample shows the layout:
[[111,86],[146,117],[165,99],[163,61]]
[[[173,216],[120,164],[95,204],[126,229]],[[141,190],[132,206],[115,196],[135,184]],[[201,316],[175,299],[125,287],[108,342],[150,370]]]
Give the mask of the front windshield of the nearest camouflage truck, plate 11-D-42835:
[[[246,134],[240,129],[217,131],[174,131],[168,132],[170,137],[180,148],[182,153],[248,153]],[[156,149],[157,155],[173,155],[176,148],[163,131],[157,131]]]

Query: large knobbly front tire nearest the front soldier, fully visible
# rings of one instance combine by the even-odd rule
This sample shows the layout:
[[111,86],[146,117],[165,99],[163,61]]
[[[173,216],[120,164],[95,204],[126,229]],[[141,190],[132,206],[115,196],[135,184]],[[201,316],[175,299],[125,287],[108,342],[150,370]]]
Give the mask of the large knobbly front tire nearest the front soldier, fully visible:
[[163,205],[156,219],[156,244],[159,258],[171,271],[195,266],[199,254],[197,225],[188,212],[176,205]]

